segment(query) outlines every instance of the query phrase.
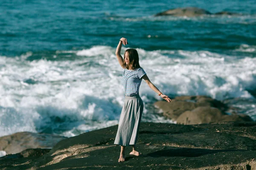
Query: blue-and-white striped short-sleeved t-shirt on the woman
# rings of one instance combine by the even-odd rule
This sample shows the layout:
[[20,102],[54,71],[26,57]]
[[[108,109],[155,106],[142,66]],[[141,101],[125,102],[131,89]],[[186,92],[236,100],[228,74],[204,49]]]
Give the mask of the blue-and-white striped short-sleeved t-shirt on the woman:
[[145,71],[141,67],[134,70],[124,69],[122,81],[126,96],[139,94],[141,80],[145,74]]

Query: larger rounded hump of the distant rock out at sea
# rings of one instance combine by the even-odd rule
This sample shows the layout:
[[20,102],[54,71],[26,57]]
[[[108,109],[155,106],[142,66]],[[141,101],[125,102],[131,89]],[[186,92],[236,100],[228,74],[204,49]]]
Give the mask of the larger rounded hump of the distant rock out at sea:
[[167,11],[160,12],[155,14],[155,16],[171,15],[171,16],[186,16],[186,17],[196,17],[200,15],[211,14],[209,11],[206,11],[201,8],[196,7],[187,7],[187,8],[175,8],[169,9]]

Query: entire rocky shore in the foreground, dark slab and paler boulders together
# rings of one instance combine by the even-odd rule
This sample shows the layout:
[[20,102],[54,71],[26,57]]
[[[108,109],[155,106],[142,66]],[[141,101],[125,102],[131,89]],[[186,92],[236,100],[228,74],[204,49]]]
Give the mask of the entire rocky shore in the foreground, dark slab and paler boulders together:
[[[208,96],[155,102],[177,124],[141,123],[142,156],[118,162],[117,125],[65,138],[20,132],[0,137],[1,170],[256,170],[256,122]],[[52,149],[51,149],[52,148]]]

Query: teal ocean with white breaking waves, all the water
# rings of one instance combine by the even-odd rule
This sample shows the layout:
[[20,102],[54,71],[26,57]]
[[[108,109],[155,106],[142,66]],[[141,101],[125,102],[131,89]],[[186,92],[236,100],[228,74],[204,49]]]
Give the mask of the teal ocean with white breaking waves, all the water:
[[[154,17],[189,6],[242,15]],[[118,124],[121,37],[163,94],[211,96],[256,120],[255,0],[1,0],[0,11],[0,136]],[[173,123],[156,95],[143,81],[142,122]]]

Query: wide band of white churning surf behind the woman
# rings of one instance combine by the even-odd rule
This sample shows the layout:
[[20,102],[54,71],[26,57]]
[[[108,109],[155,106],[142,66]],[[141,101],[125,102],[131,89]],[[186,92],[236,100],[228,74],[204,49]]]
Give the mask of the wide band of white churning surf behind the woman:
[[[115,50],[93,46],[56,51],[76,54],[73,60],[26,60],[31,52],[0,57],[0,136],[19,131],[74,136],[116,125],[125,95]],[[256,88],[256,58],[234,60],[209,51],[137,51],[140,65],[163,94],[253,98],[246,89]],[[147,105],[161,98],[144,81],[140,96],[146,104],[142,121],[172,122],[151,114]],[[255,114],[251,109],[250,116]]]

